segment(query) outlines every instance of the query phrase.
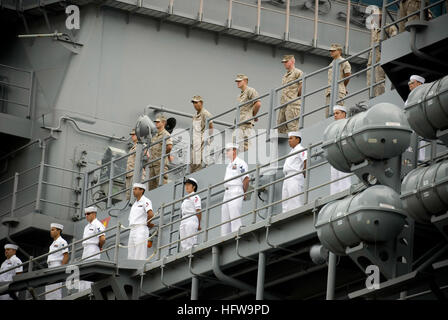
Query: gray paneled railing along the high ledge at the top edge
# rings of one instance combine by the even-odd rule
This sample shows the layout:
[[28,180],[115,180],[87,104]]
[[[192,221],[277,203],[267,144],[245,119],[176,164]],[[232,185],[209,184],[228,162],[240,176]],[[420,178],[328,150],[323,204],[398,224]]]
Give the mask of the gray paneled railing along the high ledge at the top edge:
[[[227,1],[227,3],[225,3]],[[298,0],[285,0],[281,5],[274,5],[265,0],[222,0],[213,2],[213,5],[209,5],[209,0],[141,0],[136,2],[136,7],[148,7],[153,10],[160,10],[166,13],[162,19],[169,18],[170,16],[179,16],[187,19],[197,20],[194,26],[197,26],[203,22],[214,23],[218,19],[217,24],[229,29],[243,29],[248,28],[254,35],[262,35],[263,32],[267,32],[270,36],[274,35],[280,41],[295,42],[299,38],[302,41],[312,39],[307,43],[307,46],[311,48],[320,48],[319,46],[319,30],[322,26],[330,27],[331,29],[338,29],[341,34],[341,38],[338,41],[344,43],[344,52],[348,54],[350,43],[350,31],[361,34],[368,34],[369,31],[364,28],[352,26],[350,24],[350,15],[347,15],[344,22],[338,23],[337,21],[329,21],[328,19],[319,19],[319,1],[315,1],[313,8],[314,13],[309,15],[301,14],[296,8],[298,7]],[[351,3],[350,1],[332,1],[345,12],[350,13]],[[303,5],[303,2],[300,3]],[[357,4],[360,7],[366,7],[362,4]],[[166,9],[165,9],[166,8]],[[217,11],[220,13],[218,14]],[[223,12],[223,11],[226,12]],[[278,24],[269,25],[266,23],[263,17],[268,15],[276,15],[275,21],[279,21]],[[217,17],[219,16],[219,17]],[[244,16],[244,19],[243,19]],[[210,20],[207,20],[210,18]],[[226,20],[223,24],[220,23],[220,19]],[[312,34],[305,36],[304,34],[295,34],[300,26],[304,23],[310,23]],[[226,32],[222,30],[221,32]],[[314,36],[313,36],[314,35]],[[327,41],[326,41],[327,42]],[[302,42],[300,42],[303,44]],[[327,48],[328,43],[325,43],[322,48]]]

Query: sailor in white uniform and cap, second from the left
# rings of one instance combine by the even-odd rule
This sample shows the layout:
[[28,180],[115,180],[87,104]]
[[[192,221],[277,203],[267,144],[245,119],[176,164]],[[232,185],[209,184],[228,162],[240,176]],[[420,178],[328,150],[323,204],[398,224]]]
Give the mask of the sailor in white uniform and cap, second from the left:
[[[68,243],[61,236],[61,232],[64,229],[64,226],[62,224],[52,223],[50,226],[51,226],[50,236],[53,238],[53,243],[50,245],[49,253],[65,247],[65,249],[50,254],[47,257],[48,268],[56,268],[61,265],[67,264],[68,262]],[[53,283],[47,285],[45,286],[45,292],[54,290],[61,286],[62,283]],[[61,300],[61,299],[62,299],[62,289],[57,289],[45,295],[45,300]]]

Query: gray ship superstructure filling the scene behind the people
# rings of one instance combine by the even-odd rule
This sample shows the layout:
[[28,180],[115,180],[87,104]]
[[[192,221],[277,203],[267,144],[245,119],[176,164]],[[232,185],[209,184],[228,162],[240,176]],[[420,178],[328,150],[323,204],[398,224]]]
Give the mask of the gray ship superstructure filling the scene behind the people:
[[[43,299],[45,285],[61,283],[64,299],[444,299],[448,16],[443,1],[433,2],[431,20],[410,21],[389,38],[398,2],[373,4],[382,8],[380,44],[363,25],[366,6],[350,1],[1,1],[0,242],[20,246],[24,273],[0,294]],[[69,5],[80,9],[79,29],[67,29]],[[352,65],[343,99],[351,117],[340,128],[324,116],[327,87],[329,105],[341,102],[342,80],[327,85],[334,42]],[[380,62],[366,68],[379,45]],[[304,205],[288,212],[281,187],[289,146],[275,132],[284,54],[304,71],[298,120],[308,154]],[[387,78],[375,97],[366,71],[377,65]],[[224,138],[239,124],[239,73],[260,93],[255,129],[264,131],[256,131],[255,161],[241,155],[251,180],[243,227],[221,236]],[[412,74],[427,83],[408,97]],[[194,95],[212,113],[216,137],[207,166],[190,174]],[[151,130],[137,120],[158,113],[175,119],[174,161],[169,182],[160,174],[159,187],[145,193],[155,213],[147,260],[128,260],[129,132],[141,131],[138,177]],[[350,173],[350,189],[330,194],[330,165]],[[190,176],[203,220],[198,245],[182,251]],[[100,260],[82,261],[89,206],[99,209],[107,240]],[[94,282],[91,290],[66,288],[67,266],[47,268],[54,222],[64,225],[68,265]],[[372,289],[366,279],[375,267],[380,286]]]

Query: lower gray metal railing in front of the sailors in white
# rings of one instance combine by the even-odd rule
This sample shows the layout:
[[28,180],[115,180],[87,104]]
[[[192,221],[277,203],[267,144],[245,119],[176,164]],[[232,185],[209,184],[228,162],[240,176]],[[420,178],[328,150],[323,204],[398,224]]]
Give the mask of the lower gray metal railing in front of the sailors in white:
[[[431,142],[430,144],[424,144],[424,145],[418,145],[418,142],[416,142],[416,143],[417,143],[417,145],[415,146],[415,150],[417,150],[417,152],[421,148],[427,148],[428,146],[431,147],[429,159],[424,159],[423,161],[421,161],[420,165],[425,165],[428,161],[429,162],[437,161],[437,159],[439,159],[440,157],[446,157],[447,156],[446,150],[441,152],[440,154],[437,154],[437,152],[436,152],[437,150],[434,150],[434,148],[437,147],[436,143],[434,143],[434,142]],[[257,222],[257,217],[258,217],[258,220],[261,219],[261,220],[269,220],[270,221],[270,219],[273,216],[273,210],[269,210],[269,208],[273,208],[274,206],[282,203],[283,201],[287,201],[287,200],[289,200],[291,198],[294,198],[294,197],[297,197],[297,196],[303,196],[303,199],[304,199],[303,203],[304,203],[304,205],[306,205],[308,203],[312,203],[314,201],[314,199],[310,199],[310,197],[309,197],[310,192],[312,192],[314,190],[318,190],[320,188],[324,188],[324,187],[326,187],[326,186],[328,186],[328,185],[330,185],[330,184],[332,184],[332,183],[334,183],[336,181],[339,181],[341,179],[345,179],[347,177],[352,176],[353,173],[348,175],[348,176],[346,176],[346,177],[342,177],[342,178],[338,178],[338,179],[334,179],[334,180],[330,179],[330,180],[328,180],[328,181],[326,181],[324,183],[321,183],[319,185],[316,185],[316,186],[311,186],[310,185],[310,176],[312,174],[315,174],[316,172],[319,172],[321,170],[321,167],[328,163],[328,161],[317,161],[316,163],[313,163],[312,159],[316,158],[317,156],[322,154],[322,150],[320,149],[321,144],[322,144],[322,142],[318,142],[318,143],[315,143],[315,144],[309,144],[307,147],[305,147],[305,148],[303,148],[301,150],[298,150],[298,151],[296,151],[294,153],[287,154],[285,156],[281,156],[281,157],[279,157],[279,158],[277,158],[275,160],[272,160],[271,162],[263,164],[263,165],[257,165],[256,168],[251,169],[248,172],[242,173],[239,176],[236,176],[236,177],[234,177],[232,179],[221,181],[221,182],[216,183],[214,185],[209,185],[206,188],[198,190],[194,194],[189,194],[187,196],[180,197],[180,198],[175,199],[174,201],[171,201],[169,203],[163,203],[158,208],[158,210],[156,211],[156,214],[153,216],[153,218],[151,218],[150,220],[147,221],[148,223],[149,222],[155,222],[157,224],[154,227],[154,232],[147,239],[145,239],[144,242],[147,242],[148,240],[153,240],[155,236],[158,236],[158,238],[157,238],[156,245],[153,246],[152,254],[145,261],[142,261],[142,263],[146,264],[146,263],[152,262],[151,260],[153,260],[154,258],[155,258],[154,261],[157,261],[157,260],[165,258],[165,256],[162,256],[162,250],[163,249],[170,248],[173,245],[176,245],[177,247],[179,247],[179,244],[180,244],[181,241],[183,241],[185,239],[188,239],[190,237],[194,237],[194,236],[197,236],[197,235],[202,235],[202,242],[206,244],[210,240],[212,240],[212,239],[209,238],[209,232],[211,230],[213,230],[215,228],[218,228],[222,224],[229,223],[229,222],[231,222],[231,221],[233,221],[235,219],[241,219],[241,218],[244,218],[244,217],[247,217],[247,216],[252,216],[250,224],[256,223]],[[270,202],[268,204],[259,205],[258,200],[257,200],[257,193],[258,193],[258,191],[263,190],[265,188],[274,187],[275,184],[282,183],[285,179],[288,179],[288,178],[292,177],[292,176],[286,176],[286,177],[282,177],[282,178],[270,181],[268,183],[262,184],[260,182],[260,170],[262,168],[264,168],[264,167],[267,167],[267,166],[271,165],[272,163],[277,163],[279,161],[287,159],[288,157],[295,156],[296,154],[298,154],[298,153],[300,153],[300,152],[302,152],[304,150],[306,150],[307,154],[308,154],[307,166],[306,166],[306,168],[304,170],[302,170],[301,172],[298,172],[298,173],[295,174],[295,175],[299,175],[299,174],[304,174],[305,175],[305,185],[304,185],[303,192],[298,192],[297,194],[292,195],[292,196],[290,196],[289,198],[286,198],[286,199],[278,199],[278,200],[274,200],[274,201],[272,201],[272,202]],[[246,174],[249,174],[249,175],[254,174],[255,175],[255,177],[253,179],[253,181],[255,182],[253,190],[248,190],[248,191],[244,192],[244,194],[239,195],[239,196],[237,196],[235,198],[232,198],[232,199],[228,199],[226,201],[217,201],[214,204],[211,203],[211,198],[218,197],[224,191],[223,187],[224,187],[224,184],[226,182],[231,181],[233,179],[238,179],[241,176],[246,175]],[[214,190],[217,190],[217,189],[218,189],[218,191],[214,192]],[[189,235],[187,237],[184,237],[184,238],[180,238],[179,237],[178,239],[175,239],[173,241],[171,241],[171,240],[163,241],[162,234],[164,232],[164,229],[171,228],[173,225],[175,225],[175,224],[181,222],[182,220],[188,218],[188,217],[183,217],[183,218],[181,217],[181,218],[179,218],[177,220],[169,219],[170,221],[165,222],[166,220],[168,220],[168,218],[170,218],[170,216],[171,217],[175,216],[175,211],[178,210],[178,209],[175,209],[176,204],[181,203],[183,200],[185,200],[185,199],[187,199],[187,198],[189,198],[189,197],[191,197],[191,196],[193,196],[195,194],[200,195],[200,194],[204,194],[204,193],[206,194],[206,196],[203,197],[203,199],[205,200],[206,204],[205,204],[205,207],[203,209],[201,209],[201,211],[200,211],[200,213],[203,215],[203,224],[202,224],[203,228],[200,231],[198,231],[198,232],[196,232],[196,233],[194,233],[192,235]],[[213,214],[212,213],[212,209],[217,208],[217,207],[221,206],[222,204],[224,204],[226,202],[229,202],[229,201],[232,201],[232,200],[234,200],[236,198],[239,198],[239,197],[242,197],[242,196],[248,196],[250,194],[252,194],[253,199],[251,200],[252,201],[252,208],[249,211],[243,212],[237,218],[229,219],[229,220],[226,220],[226,221],[221,221],[221,222],[219,222],[219,223],[217,223],[215,225],[209,225],[209,223],[211,221],[210,216],[211,216],[211,214]],[[169,209],[169,208],[171,208],[171,209]],[[260,215],[259,212],[262,211],[262,210],[267,210],[268,214],[266,216]],[[108,256],[107,253],[109,251],[112,251],[112,250],[114,251],[113,259],[111,259],[109,256],[108,256],[107,259],[114,263],[115,273],[118,274],[119,273],[119,252],[120,252],[120,248],[121,249],[127,248],[127,246],[122,245],[120,243],[120,239],[129,230],[130,230],[129,227],[124,227],[121,224],[121,222],[118,222],[116,225],[114,225],[112,227],[109,227],[109,228],[107,228],[104,231],[100,231],[100,232],[98,232],[98,233],[96,233],[94,235],[91,235],[91,236],[83,238],[83,239],[74,240],[73,242],[71,242],[69,244],[69,255],[70,255],[71,258],[70,258],[69,263],[67,264],[67,266],[68,265],[73,265],[73,264],[79,265],[81,262],[84,262],[84,261],[92,258],[93,256],[98,255],[98,253],[95,253],[95,254],[92,254],[91,256],[75,260],[76,252],[80,251],[83,248],[82,247],[82,242],[83,241],[91,239],[91,238],[94,238],[94,237],[98,237],[99,235],[102,235],[102,234],[110,234],[110,233],[112,233],[112,238],[114,239],[114,243],[112,245],[110,245],[110,246],[107,246],[105,249],[103,249],[100,252],[100,254],[106,253],[106,255]],[[239,231],[238,231],[238,234],[239,234]],[[41,261],[42,259],[47,258],[48,255],[50,255],[50,254],[54,254],[56,252],[59,252],[59,251],[65,250],[65,249],[67,249],[67,248],[66,247],[61,247],[61,248],[59,248],[57,250],[54,250],[52,252],[40,255],[38,257],[30,257],[29,260],[23,262],[22,264],[20,264],[18,266],[11,267],[11,268],[6,269],[6,270],[3,270],[3,271],[0,272],[0,274],[3,274],[5,272],[14,270],[14,269],[16,269],[18,267],[24,267],[24,266],[28,266],[28,272],[32,272],[34,263],[36,263],[38,261]],[[65,285],[62,285],[61,288],[64,287],[64,286]],[[57,289],[59,289],[59,288],[57,288]],[[47,294],[49,292],[50,291],[45,292],[45,293],[43,293],[43,294],[41,294],[39,296],[43,296],[43,295],[45,295],[45,294]]]

